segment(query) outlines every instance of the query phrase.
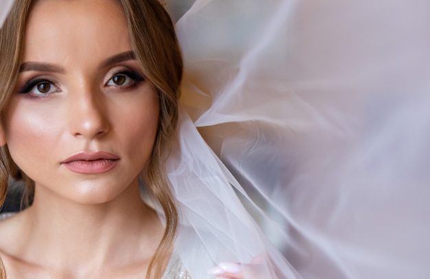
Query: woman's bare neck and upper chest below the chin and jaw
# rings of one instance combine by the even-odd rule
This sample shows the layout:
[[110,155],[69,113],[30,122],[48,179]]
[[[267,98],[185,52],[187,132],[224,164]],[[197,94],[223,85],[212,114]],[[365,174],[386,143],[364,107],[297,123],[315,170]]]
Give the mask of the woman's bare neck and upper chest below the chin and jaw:
[[78,204],[36,186],[25,218],[25,257],[74,274],[147,263],[163,235],[157,213],[140,198],[137,180],[103,204]]

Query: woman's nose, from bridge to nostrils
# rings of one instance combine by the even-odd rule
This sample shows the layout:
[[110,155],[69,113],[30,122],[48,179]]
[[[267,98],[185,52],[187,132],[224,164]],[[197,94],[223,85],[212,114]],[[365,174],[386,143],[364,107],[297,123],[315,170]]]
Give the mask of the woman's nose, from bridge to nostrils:
[[91,88],[80,88],[68,97],[69,131],[72,136],[93,139],[109,132],[103,93]]

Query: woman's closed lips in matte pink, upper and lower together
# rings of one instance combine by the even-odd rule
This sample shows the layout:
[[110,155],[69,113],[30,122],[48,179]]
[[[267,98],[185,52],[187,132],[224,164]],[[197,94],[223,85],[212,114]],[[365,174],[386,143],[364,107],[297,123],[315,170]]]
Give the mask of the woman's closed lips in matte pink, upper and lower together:
[[104,151],[93,153],[80,152],[61,162],[67,169],[76,173],[96,174],[113,169],[120,158]]

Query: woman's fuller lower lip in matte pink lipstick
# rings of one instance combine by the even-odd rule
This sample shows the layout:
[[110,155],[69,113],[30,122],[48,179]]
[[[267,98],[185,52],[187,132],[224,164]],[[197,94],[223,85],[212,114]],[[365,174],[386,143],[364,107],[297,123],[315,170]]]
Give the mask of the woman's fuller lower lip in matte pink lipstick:
[[82,174],[97,174],[106,173],[113,169],[118,163],[118,160],[76,160],[71,162],[65,162],[63,165],[70,171]]

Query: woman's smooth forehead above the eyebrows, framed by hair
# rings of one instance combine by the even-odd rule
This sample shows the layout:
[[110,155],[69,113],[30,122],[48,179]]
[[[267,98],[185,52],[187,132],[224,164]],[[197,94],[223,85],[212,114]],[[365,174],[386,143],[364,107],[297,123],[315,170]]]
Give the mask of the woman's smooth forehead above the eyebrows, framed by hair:
[[122,6],[114,0],[40,0],[25,29],[24,61],[82,62],[131,50]]

